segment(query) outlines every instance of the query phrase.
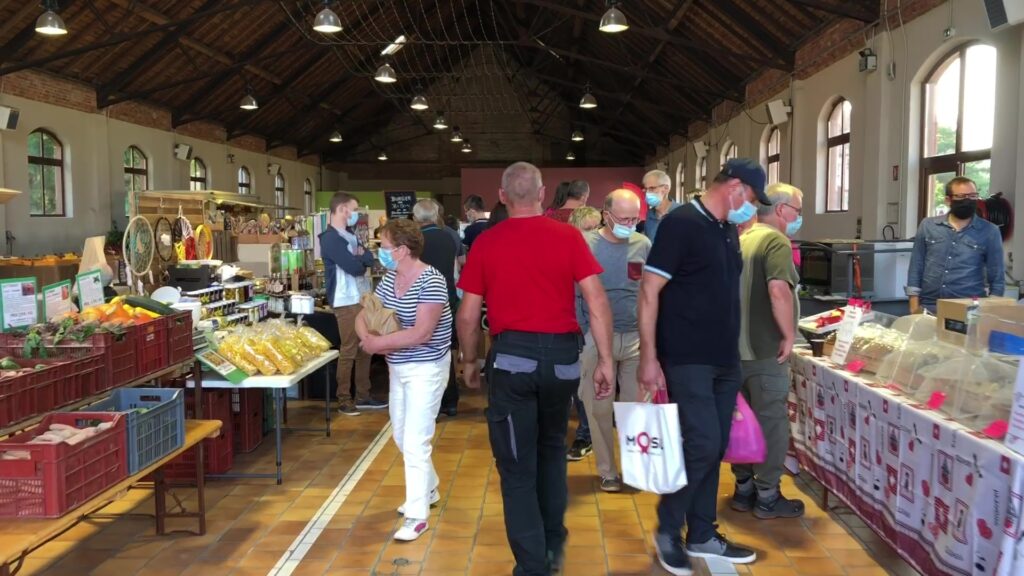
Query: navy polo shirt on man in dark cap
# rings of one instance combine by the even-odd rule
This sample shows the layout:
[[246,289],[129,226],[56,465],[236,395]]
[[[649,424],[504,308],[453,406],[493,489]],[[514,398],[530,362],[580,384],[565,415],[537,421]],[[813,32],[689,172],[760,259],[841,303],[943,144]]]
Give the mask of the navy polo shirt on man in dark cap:
[[737,366],[743,257],[736,227],[699,199],[681,206],[658,225],[644,270],[669,281],[658,299],[658,360]]

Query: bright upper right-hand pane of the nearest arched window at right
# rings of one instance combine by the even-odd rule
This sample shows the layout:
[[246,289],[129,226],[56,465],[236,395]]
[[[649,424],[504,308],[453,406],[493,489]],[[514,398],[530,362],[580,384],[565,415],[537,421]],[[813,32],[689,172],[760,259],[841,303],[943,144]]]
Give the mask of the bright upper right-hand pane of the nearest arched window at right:
[[967,49],[964,75],[964,146],[962,150],[992,148],[995,127],[995,48],[978,44]]

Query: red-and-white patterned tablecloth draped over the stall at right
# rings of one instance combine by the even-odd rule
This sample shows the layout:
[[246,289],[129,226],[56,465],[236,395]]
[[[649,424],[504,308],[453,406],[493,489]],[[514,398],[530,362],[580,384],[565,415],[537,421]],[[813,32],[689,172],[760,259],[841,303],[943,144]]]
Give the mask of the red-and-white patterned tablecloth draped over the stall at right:
[[801,464],[926,575],[1024,574],[1024,456],[893,385],[791,360]]

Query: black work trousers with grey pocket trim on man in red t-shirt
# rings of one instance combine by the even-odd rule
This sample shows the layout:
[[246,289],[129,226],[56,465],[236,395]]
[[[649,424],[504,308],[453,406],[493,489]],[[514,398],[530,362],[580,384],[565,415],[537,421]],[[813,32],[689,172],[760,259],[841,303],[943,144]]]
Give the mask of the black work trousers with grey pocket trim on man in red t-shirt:
[[565,544],[565,434],[580,387],[577,334],[503,332],[487,357],[487,429],[502,479],[514,576],[550,572]]

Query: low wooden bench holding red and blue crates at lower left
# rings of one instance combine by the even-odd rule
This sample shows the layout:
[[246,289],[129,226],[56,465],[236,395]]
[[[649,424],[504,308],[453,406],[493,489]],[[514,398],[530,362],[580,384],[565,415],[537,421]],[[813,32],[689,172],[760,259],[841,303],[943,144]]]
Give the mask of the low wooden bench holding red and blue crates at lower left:
[[203,440],[216,437],[220,433],[219,420],[186,420],[185,440],[181,448],[140,469],[137,474],[126,478],[92,498],[74,511],[54,519],[4,519],[0,523],[0,576],[16,574],[25,558],[46,542],[72,529],[88,516],[100,511],[103,507],[124,496],[132,485],[154,474],[154,495],[156,499],[157,534],[165,534],[164,523],[169,518],[195,518],[199,521],[197,534],[206,533],[206,493],[203,484],[202,468],[196,475],[196,491],[199,495],[199,509],[195,512],[168,512],[166,507],[167,484],[163,481],[160,467],[171,461],[185,450],[199,447],[202,461]]

